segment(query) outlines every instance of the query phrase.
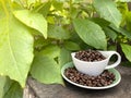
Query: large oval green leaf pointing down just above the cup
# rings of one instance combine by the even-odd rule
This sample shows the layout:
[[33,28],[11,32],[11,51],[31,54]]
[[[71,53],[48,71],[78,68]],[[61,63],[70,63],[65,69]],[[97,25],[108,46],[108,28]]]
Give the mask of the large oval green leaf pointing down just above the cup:
[[84,42],[97,49],[106,49],[106,36],[100,26],[88,20],[74,20],[73,25]]

